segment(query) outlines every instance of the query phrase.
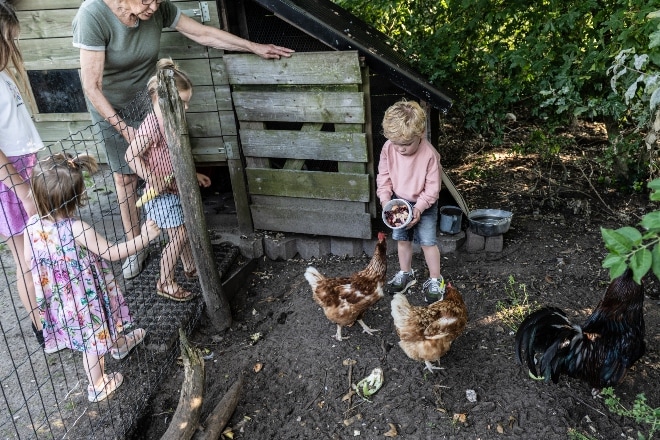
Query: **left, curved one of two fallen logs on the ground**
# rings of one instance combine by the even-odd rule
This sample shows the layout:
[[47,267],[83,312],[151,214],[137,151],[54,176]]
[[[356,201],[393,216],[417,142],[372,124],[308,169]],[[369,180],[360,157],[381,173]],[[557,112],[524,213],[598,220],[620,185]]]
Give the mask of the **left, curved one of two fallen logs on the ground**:
[[199,425],[204,400],[205,374],[202,353],[190,346],[182,329],[179,329],[179,340],[184,367],[183,384],[176,412],[161,440],[190,440]]

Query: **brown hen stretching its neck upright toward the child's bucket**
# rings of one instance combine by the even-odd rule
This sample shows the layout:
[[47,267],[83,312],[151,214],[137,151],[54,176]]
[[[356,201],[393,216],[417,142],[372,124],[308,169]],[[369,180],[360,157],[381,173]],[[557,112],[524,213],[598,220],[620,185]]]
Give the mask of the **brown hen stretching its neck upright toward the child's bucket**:
[[326,318],[337,324],[334,338],[343,339],[341,328],[357,321],[365,333],[378,331],[369,328],[362,315],[383,297],[387,273],[387,241],[384,232],[378,233],[376,250],[369,265],[350,277],[326,278],[314,267],[308,267],[305,278],[312,287],[314,300],[323,308]]

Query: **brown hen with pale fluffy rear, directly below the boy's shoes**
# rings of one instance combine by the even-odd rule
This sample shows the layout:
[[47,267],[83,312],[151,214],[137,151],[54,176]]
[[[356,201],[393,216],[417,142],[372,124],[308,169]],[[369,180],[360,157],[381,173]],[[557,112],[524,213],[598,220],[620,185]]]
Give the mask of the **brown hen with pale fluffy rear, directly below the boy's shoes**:
[[425,369],[433,372],[441,367],[432,362],[449,351],[465,329],[468,315],[463,297],[448,284],[445,298],[425,307],[411,306],[405,295],[397,293],[392,299],[392,318],[399,346],[409,358],[424,362]]

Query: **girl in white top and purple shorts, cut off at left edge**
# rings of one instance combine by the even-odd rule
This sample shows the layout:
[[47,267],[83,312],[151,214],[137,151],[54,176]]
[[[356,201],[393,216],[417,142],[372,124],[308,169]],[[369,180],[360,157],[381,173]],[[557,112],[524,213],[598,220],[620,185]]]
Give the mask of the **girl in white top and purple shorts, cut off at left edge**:
[[36,151],[43,144],[19,91],[28,89],[17,46],[19,30],[13,8],[0,1],[0,241],[6,242],[14,258],[18,295],[32,320],[37,341],[43,345],[34,285],[23,261],[23,229],[36,212],[29,197],[30,174]]

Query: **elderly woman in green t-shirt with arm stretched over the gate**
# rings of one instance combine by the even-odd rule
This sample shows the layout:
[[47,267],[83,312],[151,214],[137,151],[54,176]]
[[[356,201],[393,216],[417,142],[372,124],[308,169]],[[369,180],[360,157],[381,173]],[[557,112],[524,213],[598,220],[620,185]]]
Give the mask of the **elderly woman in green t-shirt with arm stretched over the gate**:
[[[113,172],[126,240],[138,233],[140,225],[135,207],[138,178],[124,159],[135,127],[141,122],[141,115],[131,111],[130,104],[154,74],[163,28],[175,29],[204,46],[252,52],[266,59],[289,57],[293,52],[200,24],[181,14],[169,0],[82,3],[73,19],[73,45],[80,49],[83,89]],[[141,272],[145,256],[143,251],[126,259],[124,278]]]

